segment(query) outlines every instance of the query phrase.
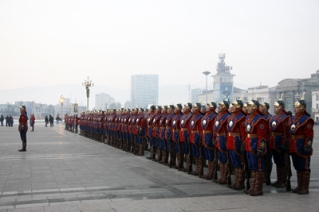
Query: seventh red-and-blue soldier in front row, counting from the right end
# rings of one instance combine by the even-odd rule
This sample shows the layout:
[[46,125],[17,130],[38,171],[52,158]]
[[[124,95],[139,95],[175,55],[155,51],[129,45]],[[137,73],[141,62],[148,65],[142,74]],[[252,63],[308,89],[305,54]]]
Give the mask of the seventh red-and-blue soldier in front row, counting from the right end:
[[173,141],[174,141],[174,154],[176,154],[177,164],[175,166],[176,169],[182,170],[184,169],[184,153],[181,147],[180,139],[179,139],[179,132],[181,131],[181,117],[183,116],[182,113],[183,106],[182,104],[177,104],[175,107],[175,116],[172,118],[172,128],[173,128]]

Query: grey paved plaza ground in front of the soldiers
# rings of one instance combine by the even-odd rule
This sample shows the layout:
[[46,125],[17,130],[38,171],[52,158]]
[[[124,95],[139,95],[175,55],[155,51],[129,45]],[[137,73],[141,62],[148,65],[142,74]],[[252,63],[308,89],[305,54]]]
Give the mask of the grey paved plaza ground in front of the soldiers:
[[[36,123],[27,152],[20,148],[17,126],[0,127],[0,212],[319,210],[319,126],[309,195],[264,186],[263,196],[251,197],[65,131],[62,124]],[[294,170],[291,180],[295,187]]]

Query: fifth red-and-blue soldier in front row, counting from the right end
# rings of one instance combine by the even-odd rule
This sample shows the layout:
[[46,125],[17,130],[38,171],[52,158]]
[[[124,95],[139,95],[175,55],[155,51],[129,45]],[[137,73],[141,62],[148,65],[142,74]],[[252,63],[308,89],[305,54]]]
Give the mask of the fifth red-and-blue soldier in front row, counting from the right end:
[[202,117],[203,115],[200,113],[201,110],[201,104],[196,103],[192,107],[192,117],[190,119],[190,146],[192,148],[193,157],[195,160],[195,171],[192,172],[193,175],[198,176],[200,178],[203,176],[203,165],[204,165],[204,158],[202,157],[203,152],[201,151],[202,148],[202,134],[203,134],[203,128],[202,128]]

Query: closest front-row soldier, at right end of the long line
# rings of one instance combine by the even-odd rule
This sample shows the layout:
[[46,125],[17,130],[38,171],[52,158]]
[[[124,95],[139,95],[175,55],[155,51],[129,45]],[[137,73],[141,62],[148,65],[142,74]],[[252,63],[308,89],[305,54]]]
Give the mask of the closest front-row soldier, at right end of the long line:
[[263,195],[266,150],[266,120],[259,111],[259,102],[251,100],[247,104],[245,140],[248,168],[251,171],[251,185],[249,190],[244,190],[251,196]]

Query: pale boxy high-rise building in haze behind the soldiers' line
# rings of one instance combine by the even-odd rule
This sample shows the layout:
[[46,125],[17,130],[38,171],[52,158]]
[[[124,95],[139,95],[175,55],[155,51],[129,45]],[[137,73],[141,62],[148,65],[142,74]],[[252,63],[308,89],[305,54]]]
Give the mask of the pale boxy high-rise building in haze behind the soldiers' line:
[[131,76],[131,103],[133,107],[144,108],[149,104],[158,104],[157,74]]

